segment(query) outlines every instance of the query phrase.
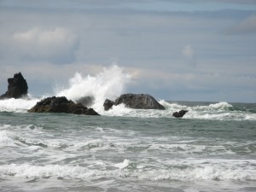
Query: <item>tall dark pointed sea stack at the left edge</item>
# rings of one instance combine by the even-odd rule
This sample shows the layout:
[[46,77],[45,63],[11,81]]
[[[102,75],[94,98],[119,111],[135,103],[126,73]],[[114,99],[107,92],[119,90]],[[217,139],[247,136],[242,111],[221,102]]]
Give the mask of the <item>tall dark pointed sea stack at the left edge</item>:
[[27,97],[27,90],[26,79],[21,73],[15,73],[14,78],[8,79],[8,90],[0,96],[0,99]]

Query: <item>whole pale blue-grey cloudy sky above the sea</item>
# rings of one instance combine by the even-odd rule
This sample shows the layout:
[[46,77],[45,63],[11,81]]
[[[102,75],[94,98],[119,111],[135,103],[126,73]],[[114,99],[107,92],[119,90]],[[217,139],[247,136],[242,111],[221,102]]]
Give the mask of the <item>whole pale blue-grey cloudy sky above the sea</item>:
[[0,0],[0,94],[53,93],[118,65],[125,92],[256,102],[256,0]]

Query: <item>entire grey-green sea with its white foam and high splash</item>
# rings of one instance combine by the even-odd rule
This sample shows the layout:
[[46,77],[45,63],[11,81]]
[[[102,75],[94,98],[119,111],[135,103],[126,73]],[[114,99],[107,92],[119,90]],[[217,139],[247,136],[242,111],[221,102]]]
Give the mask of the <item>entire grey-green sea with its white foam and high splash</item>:
[[129,79],[111,67],[55,90],[94,96],[101,116],[27,113],[41,97],[0,101],[0,191],[256,191],[255,103],[104,111]]

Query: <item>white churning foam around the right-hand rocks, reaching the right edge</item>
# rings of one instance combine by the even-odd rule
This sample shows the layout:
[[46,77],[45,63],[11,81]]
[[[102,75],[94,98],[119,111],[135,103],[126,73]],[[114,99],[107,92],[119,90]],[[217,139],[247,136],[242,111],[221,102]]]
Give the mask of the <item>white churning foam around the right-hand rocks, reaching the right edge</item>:
[[256,113],[241,112],[230,110],[232,105],[227,102],[219,102],[208,106],[188,107],[177,103],[169,103],[160,101],[166,110],[154,109],[132,109],[125,108],[120,104],[113,106],[109,111],[102,111],[103,115],[108,116],[125,116],[139,118],[173,118],[172,113],[180,110],[188,110],[189,112],[183,116],[183,119],[211,119],[211,120],[255,120]]

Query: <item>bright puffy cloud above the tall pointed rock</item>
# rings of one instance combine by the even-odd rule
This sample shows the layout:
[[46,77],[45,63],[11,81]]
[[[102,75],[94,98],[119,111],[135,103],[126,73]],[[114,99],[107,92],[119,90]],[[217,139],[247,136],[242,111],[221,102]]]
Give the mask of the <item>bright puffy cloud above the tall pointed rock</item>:
[[13,51],[20,59],[70,63],[79,48],[78,37],[66,28],[34,27],[26,32],[15,32]]

